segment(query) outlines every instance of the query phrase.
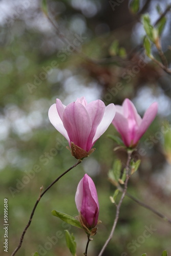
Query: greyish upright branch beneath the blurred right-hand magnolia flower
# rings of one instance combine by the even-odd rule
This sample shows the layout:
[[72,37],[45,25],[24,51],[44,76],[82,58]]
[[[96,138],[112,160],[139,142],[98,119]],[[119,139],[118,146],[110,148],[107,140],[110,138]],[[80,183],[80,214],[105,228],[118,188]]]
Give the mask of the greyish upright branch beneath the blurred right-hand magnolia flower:
[[114,224],[113,224],[113,227],[112,227],[112,230],[111,230],[111,233],[108,237],[108,239],[106,240],[106,242],[104,243],[100,253],[98,254],[98,256],[101,256],[105,250],[105,248],[107,247],[107,245],[109,244],[109,242],[111,241],[112,237],[113,237],[113,234],[114,234],[114,231],[115,231],[115,228],[116,228],[116,225],[117,225],[117,222],[118,222],[118,219],[119,219],[119,212],[120,212],[120,207],[121,207],[121,204],[122,204],[122,201],[125,197],[125,194],[126,194],[126,190],[127,190],[127,183],[130,179],[130,175],[129,175],[129,165],[130,165],[130,161],[131,161],[131,154],[132,152],[127,152],[127,162],[126,162],[126,180],[125,180],[125,183],[124,183],[124,189],[123,189],[123,193],[122,193],[122,196],[121,196],[121,199],[118,203],[118,205],[116,206],[116,216],[115,216],[115,220],[114,220]]

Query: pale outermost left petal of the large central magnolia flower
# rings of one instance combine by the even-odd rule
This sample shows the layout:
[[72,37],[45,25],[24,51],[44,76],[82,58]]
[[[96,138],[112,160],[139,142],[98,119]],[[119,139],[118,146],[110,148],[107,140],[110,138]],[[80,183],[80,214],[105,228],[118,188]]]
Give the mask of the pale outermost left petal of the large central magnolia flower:
[[48,112],[49,120],[53,124],[53,126],[56,128],[56,130],[61,133],[70,143],[70,139],[68,136],[68,133],[63,126],[62,120],[60,119],[60,116],[56,109],[56,104],[51,105],[49,112]]

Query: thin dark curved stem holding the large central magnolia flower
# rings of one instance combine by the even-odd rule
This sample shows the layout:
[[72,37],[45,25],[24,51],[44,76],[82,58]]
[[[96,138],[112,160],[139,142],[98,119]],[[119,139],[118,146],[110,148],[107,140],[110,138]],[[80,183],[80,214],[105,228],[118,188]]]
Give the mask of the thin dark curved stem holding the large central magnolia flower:
[[78,164],[80,164],[82,161],[79,160],[77,163],[75,163],[73,166],[71,166],[68,170],[66,170],[66,172],[62,173],[56,180],[54,180],[46,189],[43,193],[41,193],[41,190],[42,190],[42,187],[40,188],[40,195],[32,209],[32,212],[31,212],[31,215],[30,215],[30,219],[29,219],[29,222],[28,224],[26,225],[23,233],[22,233],[22,236],[20,237],[20,241],[19,241],[19,244],[18,246],[16,247],[16,249],[12,252],[11,256],[14,256],[16,254],[16,252],[19,250],[19,248],[22,246],[22,243],[23,243],[23,239],[24,239],[24,236],[25,236],[25,233],[28,229],[28,227],[30,226],[31,224],[31,221],[32,221],[32,218],[33,218],[33,215],[34,215],[34,212],[35,212],[35,209],[40,201],[40,199],[42,198],[42,196],[45,195],[45,193],[61,178],[63,177],[65,174],[67,174],[71,169],[73,169],[74,167],[76,167]]

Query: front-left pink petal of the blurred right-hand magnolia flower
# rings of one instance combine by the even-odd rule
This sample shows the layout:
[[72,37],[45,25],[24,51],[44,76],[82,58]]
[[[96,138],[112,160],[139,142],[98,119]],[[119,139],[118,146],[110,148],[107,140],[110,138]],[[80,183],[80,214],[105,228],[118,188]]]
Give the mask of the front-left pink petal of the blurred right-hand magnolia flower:
[[124,144],[129,147],[132,143],[132,133],[129,129],[128,120],[123,115],[116,112],[112,124],[115,126],[118,133],[121,134]]

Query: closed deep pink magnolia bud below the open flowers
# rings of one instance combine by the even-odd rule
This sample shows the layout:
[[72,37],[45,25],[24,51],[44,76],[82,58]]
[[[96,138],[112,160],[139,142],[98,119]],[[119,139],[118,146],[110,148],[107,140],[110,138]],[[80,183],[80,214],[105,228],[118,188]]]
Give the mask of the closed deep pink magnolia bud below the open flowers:
[[88,229],[94,228],[98,221],[99,203],[95,184],[87,174],[77,186],[75,203],[80,213],[80,222]]

